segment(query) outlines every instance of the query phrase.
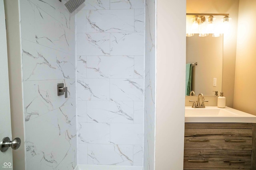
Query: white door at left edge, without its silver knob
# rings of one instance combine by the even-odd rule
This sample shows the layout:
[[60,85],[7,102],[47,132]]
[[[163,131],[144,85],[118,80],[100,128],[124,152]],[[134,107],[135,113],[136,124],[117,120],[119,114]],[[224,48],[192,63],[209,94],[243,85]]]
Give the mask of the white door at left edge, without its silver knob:
[[[0,141],[12,140],[4,0],[0,0]],[[0,151],[0,169],[12,170],[12,149]]]

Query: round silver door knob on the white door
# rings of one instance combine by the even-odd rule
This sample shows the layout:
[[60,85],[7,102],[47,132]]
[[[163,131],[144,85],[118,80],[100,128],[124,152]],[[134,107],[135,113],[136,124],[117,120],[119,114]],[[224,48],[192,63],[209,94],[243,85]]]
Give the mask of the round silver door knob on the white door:
[[16,150],[20,147],[21,141],[20,138],[16,137],[12,141],[10,141],[9,137],[5,137],[0,143],[1,152],[5,152],[9,147]]

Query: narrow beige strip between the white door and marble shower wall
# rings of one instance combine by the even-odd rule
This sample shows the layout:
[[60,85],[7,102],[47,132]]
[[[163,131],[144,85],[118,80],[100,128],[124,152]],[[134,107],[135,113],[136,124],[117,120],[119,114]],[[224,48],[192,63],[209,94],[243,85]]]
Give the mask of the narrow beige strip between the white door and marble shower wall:
[[22,107],[21,48],[18,0],[4,0],[10,84],[12,138],[21,139],[20,148],[12,151],[14,170],[25,170],[24,117]]

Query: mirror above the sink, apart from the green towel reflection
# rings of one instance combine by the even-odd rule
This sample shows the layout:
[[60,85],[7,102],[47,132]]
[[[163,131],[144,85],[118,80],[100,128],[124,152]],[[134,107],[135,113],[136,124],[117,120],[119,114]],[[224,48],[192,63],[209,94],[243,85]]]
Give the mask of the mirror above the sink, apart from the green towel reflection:
[[[213,91],[222,91],[223,35],[186,37],[186,63],[192,64],[191,90],[214,96]],[[197,63],[197,65],[195,64]],[[214,79],[216,81],[214,81]]]

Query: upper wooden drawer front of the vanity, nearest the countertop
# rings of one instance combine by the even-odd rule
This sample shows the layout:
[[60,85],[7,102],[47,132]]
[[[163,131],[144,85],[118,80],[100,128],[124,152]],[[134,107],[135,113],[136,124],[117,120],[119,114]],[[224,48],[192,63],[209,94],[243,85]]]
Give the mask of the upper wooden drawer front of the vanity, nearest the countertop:
[[252,129],[185,129],[184,149],[252,150]]

